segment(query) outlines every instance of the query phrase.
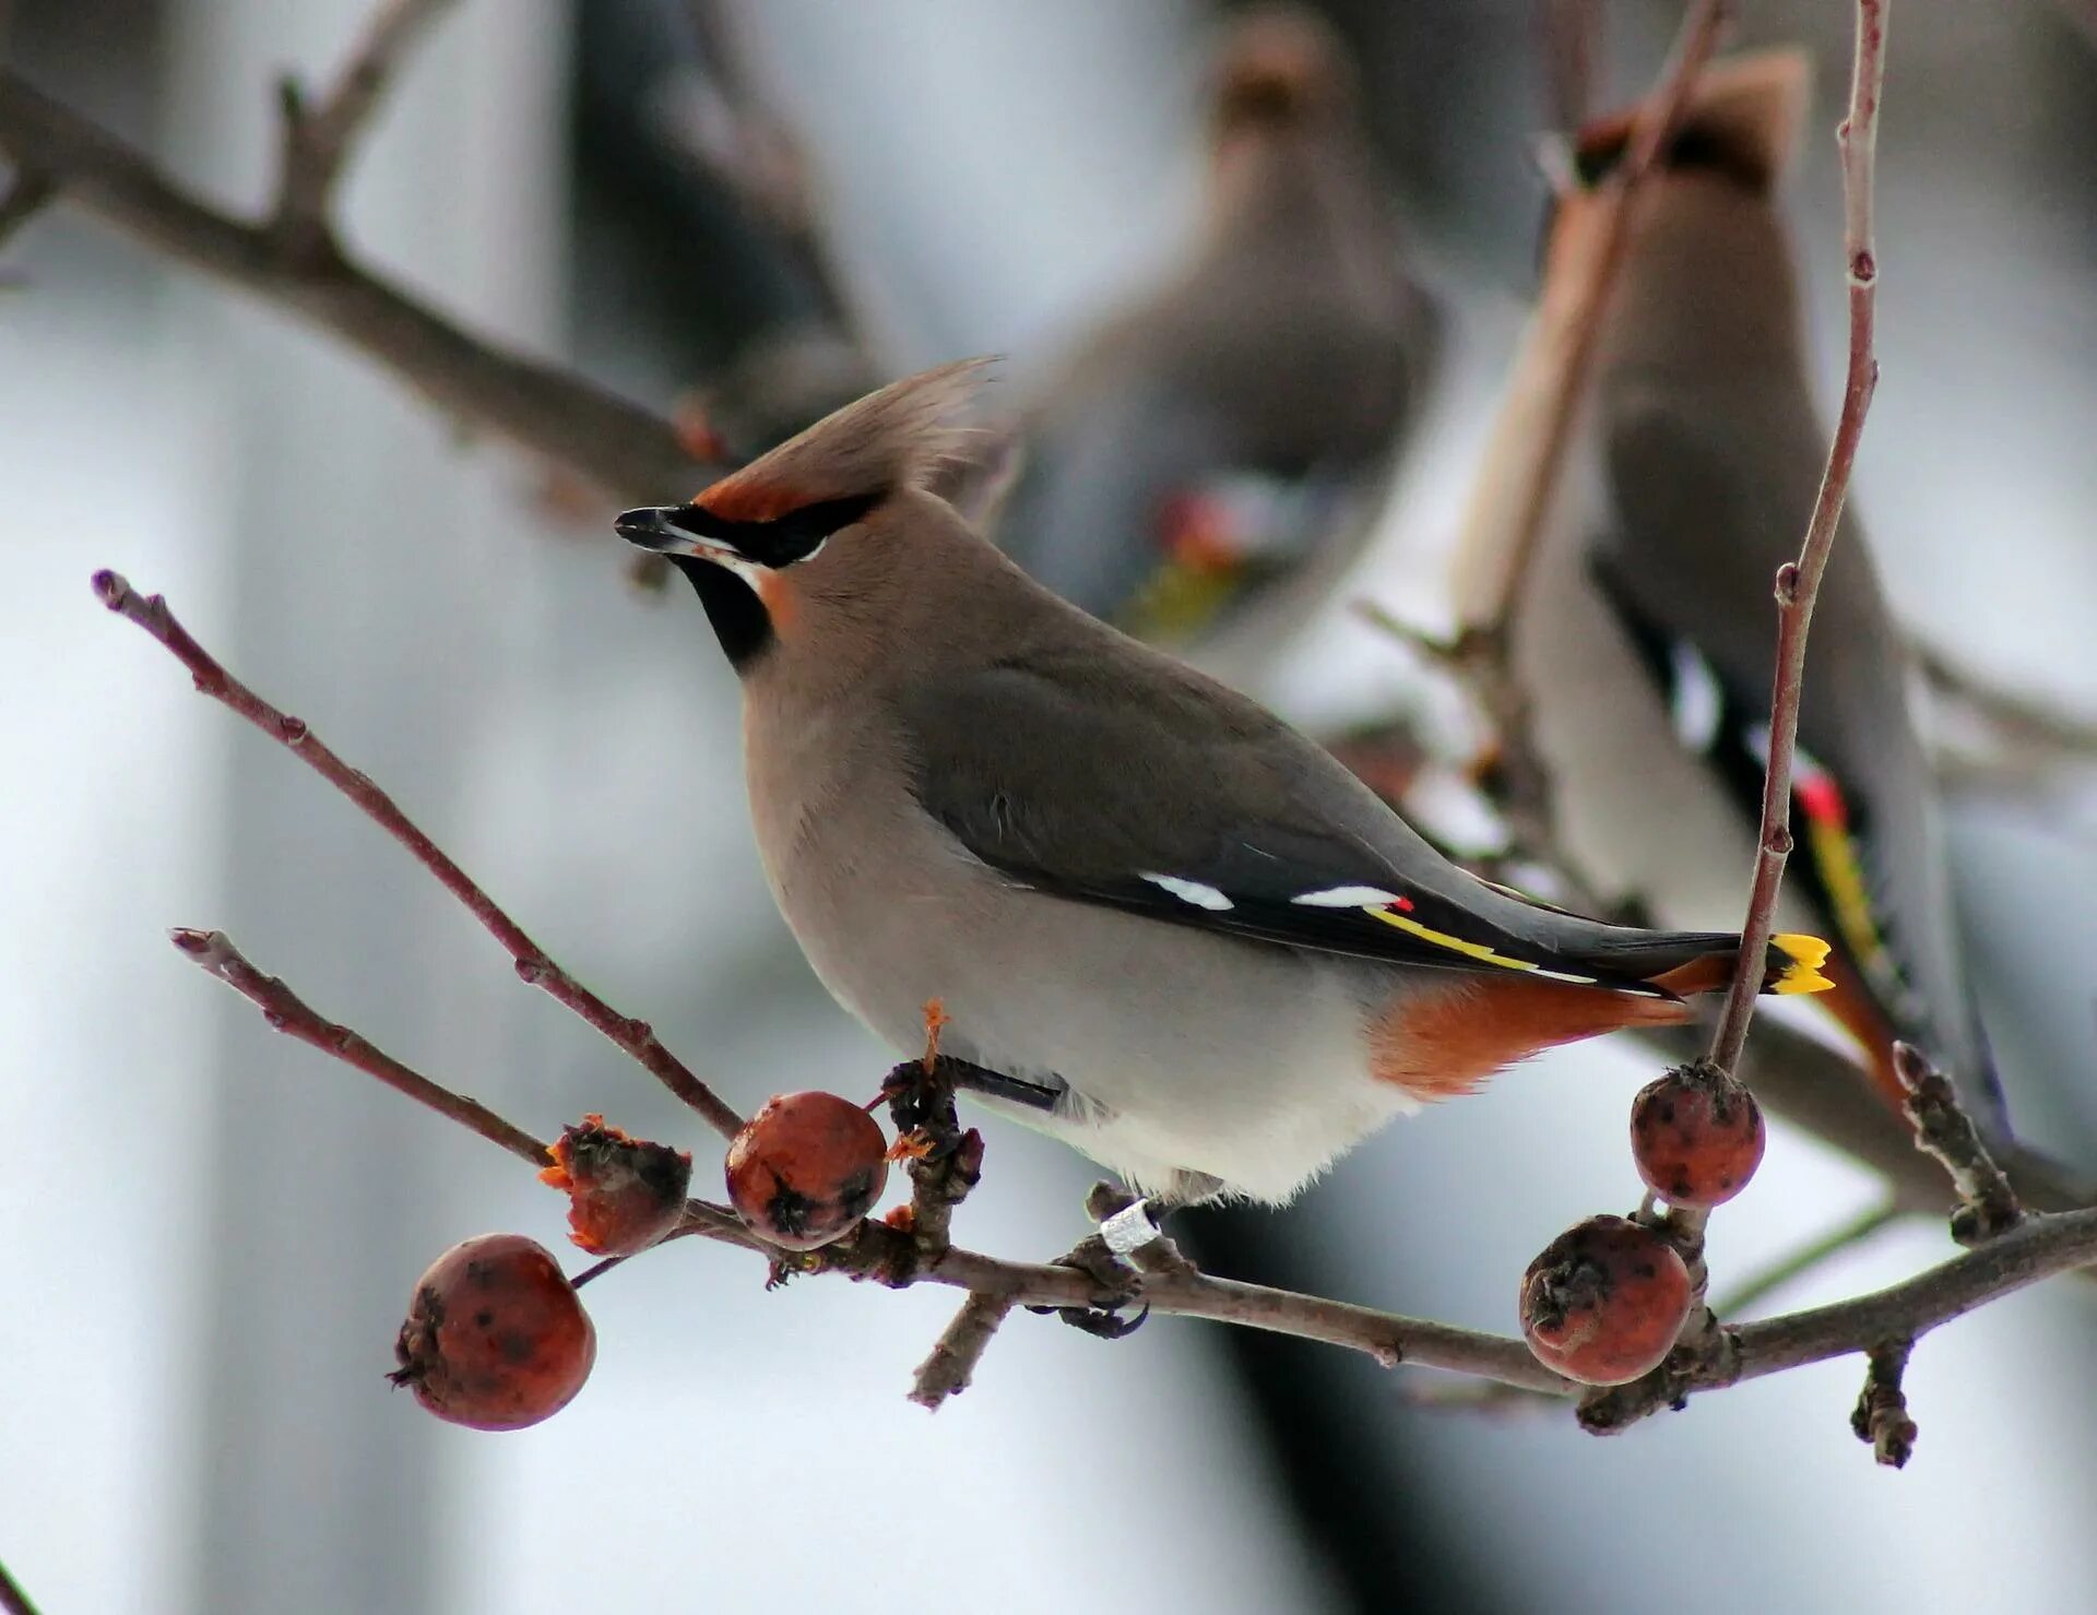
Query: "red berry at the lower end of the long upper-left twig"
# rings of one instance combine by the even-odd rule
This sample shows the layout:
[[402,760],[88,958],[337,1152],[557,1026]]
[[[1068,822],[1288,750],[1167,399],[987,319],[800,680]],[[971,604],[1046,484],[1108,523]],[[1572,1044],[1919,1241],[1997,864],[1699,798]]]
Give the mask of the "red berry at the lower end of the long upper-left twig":
[[881,1124],[835,1093],[780,1093],[728,1145],[728,1200],[776,1246],[849,1233],[889,1181]]

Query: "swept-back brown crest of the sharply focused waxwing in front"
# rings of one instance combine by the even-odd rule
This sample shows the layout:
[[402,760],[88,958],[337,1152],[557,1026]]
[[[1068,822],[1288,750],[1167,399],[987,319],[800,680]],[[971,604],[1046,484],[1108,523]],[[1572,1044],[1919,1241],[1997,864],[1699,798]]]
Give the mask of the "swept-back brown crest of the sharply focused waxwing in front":
[[971,459],[971,428],[954,426],[992,359],[960,359],[906,375],[723,476],[694,505],[732,522],[774,522],[805,505],[881,501],[931,487]]

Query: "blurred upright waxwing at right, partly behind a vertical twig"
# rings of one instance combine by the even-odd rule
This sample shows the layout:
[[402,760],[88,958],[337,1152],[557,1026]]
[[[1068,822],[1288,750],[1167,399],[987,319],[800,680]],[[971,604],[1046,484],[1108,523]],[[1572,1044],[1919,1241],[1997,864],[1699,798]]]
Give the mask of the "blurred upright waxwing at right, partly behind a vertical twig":
[[[1667,925],[1738,912],[1747,891],[1776,667],[1770,589],[1797,554],[1826,457],[1774,197],[1808,73],[1797,50],[1705,73],[1634,203],[1529,564],[1510,577],[1508,552],[1489,543],[1457,558],[1462,621],[1493,621],[1506,598],[1560,856],[1600,900],[1642,904]],[[1590,126],[1581,176],[1606,172],[1627,134],[1627,113]],[[1575,260],[1596,214],[1585,193],[1560,199],[1545,279]],[[1816,1005],[1856,1038],[1894,1105],[1883,1137],[1843,1141],[1912,1164],[1896,1036],[1954,1076],[1992,1137],[2007,1139],[2007,1118],[1959,956],[1906,680],[1900,625],[1845,516],[1812,625],[1780,923],[1835,942],[1833,990]]]

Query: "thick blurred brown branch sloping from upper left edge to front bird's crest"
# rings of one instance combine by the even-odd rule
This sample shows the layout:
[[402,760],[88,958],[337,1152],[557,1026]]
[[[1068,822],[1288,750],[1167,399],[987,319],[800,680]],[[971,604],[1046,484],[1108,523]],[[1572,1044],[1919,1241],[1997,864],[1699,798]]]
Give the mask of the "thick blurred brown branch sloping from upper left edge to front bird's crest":
[[445,319],[346,252],[289,254],[268,224],[210,206],[136,147],[0,69],[0,153],[48,174],[69,208],[348,342],[447,415],[495,432],[591,487],[696,487],[671,424],[593,382]]

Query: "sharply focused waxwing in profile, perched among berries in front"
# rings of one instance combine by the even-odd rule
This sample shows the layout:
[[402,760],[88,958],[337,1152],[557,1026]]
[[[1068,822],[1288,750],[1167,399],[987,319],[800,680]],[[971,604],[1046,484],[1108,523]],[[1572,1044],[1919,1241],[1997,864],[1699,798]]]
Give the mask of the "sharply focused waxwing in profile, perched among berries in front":
[[[742,680],[757,845],[824,986],[900,1053],[1162,1200],[1288,1200],[1510,1061],[1682,1021],[1738,938],[1466,875],[1252,701],[1034,583],[927,491],[979,375],[818,422],[619,531]],[[1822,986],[1778,938],[1770,986]]]

